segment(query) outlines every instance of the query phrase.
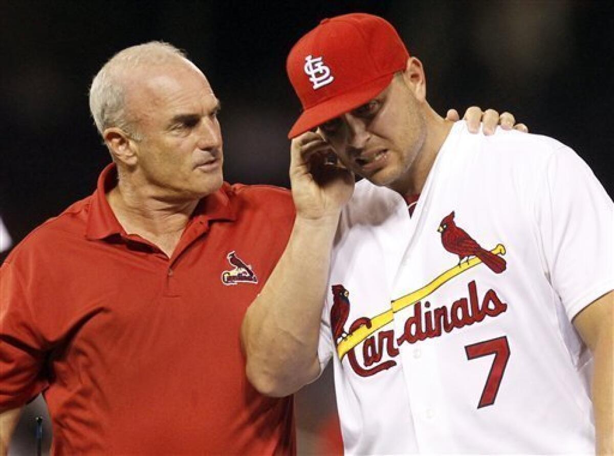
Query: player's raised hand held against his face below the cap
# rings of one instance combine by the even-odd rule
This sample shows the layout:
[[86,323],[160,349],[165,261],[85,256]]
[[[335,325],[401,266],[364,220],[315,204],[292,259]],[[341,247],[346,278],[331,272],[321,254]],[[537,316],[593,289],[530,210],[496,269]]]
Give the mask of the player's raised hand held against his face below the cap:
[[354,192],[354,175],[336,159],[319,133],[307,132],[290,146],[290,183],[297,215],[338,216]]

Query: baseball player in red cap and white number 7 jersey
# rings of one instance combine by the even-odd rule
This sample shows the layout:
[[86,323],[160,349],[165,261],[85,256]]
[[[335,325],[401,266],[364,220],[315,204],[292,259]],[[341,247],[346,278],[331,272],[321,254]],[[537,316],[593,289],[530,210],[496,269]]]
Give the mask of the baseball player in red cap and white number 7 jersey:
[[322,21],[287,71],[297,219],[243,323],[255,387],[332,359],[349,454],[612,452],[614,207],[586,164],[442,119],[378,17]]

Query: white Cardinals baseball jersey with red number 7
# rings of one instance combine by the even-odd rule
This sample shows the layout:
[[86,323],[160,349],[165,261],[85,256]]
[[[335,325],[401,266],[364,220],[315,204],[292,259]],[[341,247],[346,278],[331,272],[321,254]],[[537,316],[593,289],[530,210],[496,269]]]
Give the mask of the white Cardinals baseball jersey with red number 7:
[[454,125],[410,218],[357,184],[319,357],[348,454],[591,454],[592,358],[572,326],[614,288],[614,207],[571,150]]

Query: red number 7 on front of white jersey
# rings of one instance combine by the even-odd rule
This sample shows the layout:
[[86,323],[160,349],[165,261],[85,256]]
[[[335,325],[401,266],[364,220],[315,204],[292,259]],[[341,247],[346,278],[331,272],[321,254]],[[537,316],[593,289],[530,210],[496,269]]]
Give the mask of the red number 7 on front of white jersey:
[[497,398],[499,385],[503,379],[503,372],[505,372],[507,360],[510,359],[510,345],[507,343],[507,336],[467,345],[465,353],[467,353],[467,360],[495,355],[494,360],[492,360],[491,371],[488,372],[488,377],[486,378],[486,385],[484,385],[484,390],[480,397],[478,409],[491,406],[494,404],[495,398]]

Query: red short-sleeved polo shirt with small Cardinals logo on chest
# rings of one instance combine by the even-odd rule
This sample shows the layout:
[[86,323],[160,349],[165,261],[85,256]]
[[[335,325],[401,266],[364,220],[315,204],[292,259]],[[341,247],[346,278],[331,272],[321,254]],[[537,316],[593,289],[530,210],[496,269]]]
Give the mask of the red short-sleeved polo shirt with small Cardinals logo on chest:
[[0,410],[43,392],[54,454],[292,454],[292,398],[245,376],[239,328],[281,256],[289,192],[230,186],[201,200],[170,259],[90,197],[0,269]]

